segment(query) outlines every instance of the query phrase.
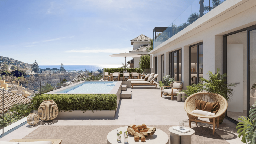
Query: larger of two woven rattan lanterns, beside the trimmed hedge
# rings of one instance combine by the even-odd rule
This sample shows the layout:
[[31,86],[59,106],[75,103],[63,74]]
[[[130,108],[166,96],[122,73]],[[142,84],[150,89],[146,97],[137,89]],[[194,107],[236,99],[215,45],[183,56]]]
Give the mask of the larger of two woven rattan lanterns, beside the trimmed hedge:
[[53,100],[43,100],[38,107],[37,114],[41,120],[51,121],[58,115],[57,104]]

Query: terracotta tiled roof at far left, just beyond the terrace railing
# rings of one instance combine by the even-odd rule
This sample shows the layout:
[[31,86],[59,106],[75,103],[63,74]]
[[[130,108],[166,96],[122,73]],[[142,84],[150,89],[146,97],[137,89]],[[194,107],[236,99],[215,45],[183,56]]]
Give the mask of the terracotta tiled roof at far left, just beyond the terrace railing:
[[[3,89],[0,90],[0,93],[3,93]],[[17,103],[30,103],[31,99],[21,96],[20,94],[11,93],[10,91],[4,90],[4,112],[7,112],[7,110],[14,104]],[[2,98],[0,99],[0,109],[2,111],[3,109],[3,101]]]

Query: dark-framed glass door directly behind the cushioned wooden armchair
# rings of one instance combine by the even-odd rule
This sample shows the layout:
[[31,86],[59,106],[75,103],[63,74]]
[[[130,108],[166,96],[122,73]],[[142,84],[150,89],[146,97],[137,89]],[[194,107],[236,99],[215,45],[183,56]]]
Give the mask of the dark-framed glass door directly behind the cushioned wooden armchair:
[[169,53],[169,75],[176,81],[181,81],[181,50]]

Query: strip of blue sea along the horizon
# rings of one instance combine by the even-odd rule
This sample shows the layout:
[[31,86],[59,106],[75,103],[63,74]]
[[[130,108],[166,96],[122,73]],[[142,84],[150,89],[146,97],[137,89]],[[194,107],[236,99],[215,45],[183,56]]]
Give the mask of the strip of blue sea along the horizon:
[[[89,71],[97,71],[98,69],[103,68],[118,68],[121,67],[120,64],[110,64],[110,65],[64,65],[63,67],[67,71],[78,71],[78,70],[89,70]],[[39,65],[39,68],[60,68],[60,65]]]

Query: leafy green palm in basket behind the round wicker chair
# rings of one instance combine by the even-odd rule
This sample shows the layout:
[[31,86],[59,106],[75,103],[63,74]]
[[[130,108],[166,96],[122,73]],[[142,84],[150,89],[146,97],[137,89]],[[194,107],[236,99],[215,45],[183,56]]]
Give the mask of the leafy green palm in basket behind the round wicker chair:
[[[217,68],[217,72],[213,73],[209,71],[208,80],[201,78],[200,80],[203,82],[203,90],[211,93],[217,93],[223,96],[228,102],[232,99],[234,94],[234,90],[231,87],[236,87],[235,83],[227,83],[226,77],[228,74],[221,74],[220,69]],[[219,124],[221,124],[224,120],[225,113],[220,116]],[[213,122],[213,119],[209,119],[210,122]]]

